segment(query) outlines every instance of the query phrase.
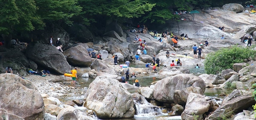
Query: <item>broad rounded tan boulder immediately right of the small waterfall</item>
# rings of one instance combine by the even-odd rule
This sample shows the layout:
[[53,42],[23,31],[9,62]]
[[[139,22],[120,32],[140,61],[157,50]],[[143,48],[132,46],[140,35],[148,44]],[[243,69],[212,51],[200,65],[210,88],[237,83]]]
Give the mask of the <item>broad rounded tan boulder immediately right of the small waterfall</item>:
[[187,87],[200,87],[205,91],[204,81],[195,75],[179,74],[157,81],[154,87],[154,99],[159,102],[172,103],[175,90],[183,90]]

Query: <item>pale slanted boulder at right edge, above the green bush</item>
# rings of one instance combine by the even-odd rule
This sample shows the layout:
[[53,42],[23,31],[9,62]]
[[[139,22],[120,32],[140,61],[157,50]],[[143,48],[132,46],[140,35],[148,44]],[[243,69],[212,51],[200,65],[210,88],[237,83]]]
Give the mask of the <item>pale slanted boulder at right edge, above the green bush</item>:
[[236,33],[232,38],[233,39],[241,39],[245,34],[253,34],[253,32],[256,31],[256,26],[247,26],[246,28],[243,28],[238,33]]

